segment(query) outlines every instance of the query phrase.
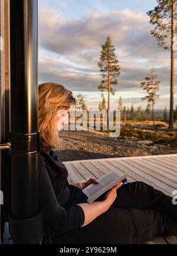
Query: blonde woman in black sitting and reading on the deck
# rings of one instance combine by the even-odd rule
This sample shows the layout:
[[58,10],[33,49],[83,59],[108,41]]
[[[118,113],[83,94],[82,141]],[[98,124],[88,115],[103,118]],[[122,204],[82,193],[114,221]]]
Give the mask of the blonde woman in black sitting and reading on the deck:
[[39,86],[38,182],[53,244],[141,244],[157,235],[177,235],[177,207],[171,197],[148,184],[117,184],[89,204],[82,189],[97,181],[68,183],[67,168],[54,150],[60,149],[58,129],[63,126],[57,113],[70,111],[73,104],[71,91],[63,85]]

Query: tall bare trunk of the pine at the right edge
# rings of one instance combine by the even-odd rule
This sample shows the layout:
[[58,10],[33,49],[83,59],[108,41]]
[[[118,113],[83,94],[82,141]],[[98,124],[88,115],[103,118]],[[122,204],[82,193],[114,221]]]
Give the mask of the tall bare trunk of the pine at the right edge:
[[172,2],[172,37],[171,37],[171,104],[169,113],[169,129],[173,128],[173,94],[174,94],[174,73],[175,73],[175,1]]

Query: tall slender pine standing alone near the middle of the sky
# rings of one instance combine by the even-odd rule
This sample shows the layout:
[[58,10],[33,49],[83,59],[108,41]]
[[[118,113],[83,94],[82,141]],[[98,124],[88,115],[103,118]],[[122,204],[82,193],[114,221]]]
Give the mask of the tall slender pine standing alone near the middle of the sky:
[[109,124],[109,110],[110,110],[110,93],[114,95],[115,89],[112,85],[117,85],[117,78],[120,75],[120,66],[119,60],[117,59],[114,45],[110,36],[106,38],[104,44],[101,45],[100,61],[98,66],[100,68],[101,76],[103,80],[99,85],[98,89],[104,91],[105,89],[108,92],[107,100],[107,124]]

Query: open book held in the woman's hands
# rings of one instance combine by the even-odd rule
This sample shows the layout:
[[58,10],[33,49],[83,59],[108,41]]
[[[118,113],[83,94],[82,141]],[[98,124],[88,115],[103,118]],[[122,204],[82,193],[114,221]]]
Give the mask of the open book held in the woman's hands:
[[117,183],[120,183],[121,181],[126,182],[126,177],[129,174],[119,175],[119,173],[115,170],[108,172],[107,174],[101,176],[99,178],[99,183],[94,184],[91,183],[88,187],[83,189],[83,193],[86,194],[88,203],[92,203],[94,200],[96,200],[101,194],[112,188]]

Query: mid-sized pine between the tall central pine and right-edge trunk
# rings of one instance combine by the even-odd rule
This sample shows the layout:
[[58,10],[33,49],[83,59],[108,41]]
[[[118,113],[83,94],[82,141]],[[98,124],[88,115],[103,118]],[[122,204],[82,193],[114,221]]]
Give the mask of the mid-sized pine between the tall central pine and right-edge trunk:
[[156,81],[157,75],[154,69],[151,69],[150,75],[145,78],[146,82],[141,82],[140,87],[145,89],[148,93],[147,96],[143,97],[142,100],[148,100],[148,103],[152,103],[152,119],[153,126],[155,126],[154,106],[156,98],[159,98],[159,94],[156,93],[159,89],[160,81]]

